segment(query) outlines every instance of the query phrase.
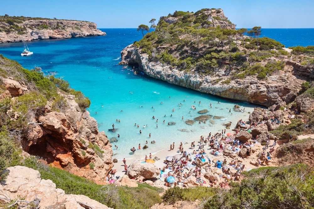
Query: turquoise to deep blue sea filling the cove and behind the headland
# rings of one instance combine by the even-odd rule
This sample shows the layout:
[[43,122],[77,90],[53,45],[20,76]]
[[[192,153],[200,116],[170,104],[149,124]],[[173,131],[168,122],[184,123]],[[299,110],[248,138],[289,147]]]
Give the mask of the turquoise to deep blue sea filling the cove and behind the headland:
[[[172,142],[190,143],[198,140],[200,135],[221,132],[223,123],[232,121],[234,124],[238,119],[247,117],[246,112],[252,112],[252,104],[203,94],[143,74],[134,75],[131,67],[125,69],[117,64],[121,60],[120,51],[141,39],[142,34],[136,29],[101,30],[107,35],[28,42],[30,50],[34,52],[34,55],[29,57],[20,55],[23,51],[22,43],[0,44],[0,53],[9,59],[17,60],[24,68],[39,66],[45,73],[54,71],[57,77],[69,81],[72,88],[84,92],[91,100],[89,112],[97,120],[99,130],[105,131],[108,138],[117,138],[117,134],[120,134],[118,142],[113,143],[113,146],[118,146],[118,149],[113,147],[115,158],[134,158],[154,153],[168,149]],[[263,33],[268,34],[268,37],[276,38],[286,46],[313,44],[313,31],[314,29],[263,29]],[[201,104],[198,101],[201,101]],[[179,106],[180,103],[182,105]],[[213,106],[211,109],[210,103]],[[245,107],[246,112],[231,110],[231,116],[229,109],[232,109],[234,104]],[[191,108],[192,105],[196,105],[196,111]],[[185,123],[186,119],[199,116],[197,111],[202,109],[208,109],[209,114],[225,118],[215,119],[214,125],[209,121],[192,126]],[[120,112],[121,110],[123,112]],[[152,119],[153,116],[155,119]],[[116,119],[120,120],[120,123],[116,122]],[[168,126],[168,122],[176,124]],[[116,133],[108,132],[113,123],[115,128],[118,128]],[[139,124],[139,128],[134,126],[135,123]],[[178,130],[182,128],[189,132]],[[139,133],[140,130],[142,133]],[[150,144],[153,140],[156,143]],[[137,150],[134,155],[130,154],[132,147],[138,148],[138,144],[143,147],[146,141],[149,149]]]

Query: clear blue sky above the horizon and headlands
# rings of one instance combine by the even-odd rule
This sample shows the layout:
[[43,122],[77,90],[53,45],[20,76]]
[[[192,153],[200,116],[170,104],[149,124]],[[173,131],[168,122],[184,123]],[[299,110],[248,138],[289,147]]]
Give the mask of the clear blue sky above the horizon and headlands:
[[314,28],[313,0],[3,0],[0,15],[76,19],[98,28],[137,28],[178,11],[222,8],[237,28]]

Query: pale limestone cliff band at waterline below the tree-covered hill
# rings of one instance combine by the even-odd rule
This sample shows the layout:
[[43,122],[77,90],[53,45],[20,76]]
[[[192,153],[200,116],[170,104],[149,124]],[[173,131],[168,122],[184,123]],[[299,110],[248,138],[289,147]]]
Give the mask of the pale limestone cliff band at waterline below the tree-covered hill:
[[203,76],[196,72],[186,73],[160,62],[149,61],[148,55],[139,52],[133,45],[127,46],[121,52],[121,56],[122,61],[119,64],[138,64],[139,70],[150,77],[220,97],[264,106],[272,106],[283,100],[288,102],[287,95],[301,89],[303,80],[299,79],[300,76],[314,75],[312,70],[301,69],[289,61],[290,64],[285,66],[285,71],[269,76],[268,80],[261,81],[256,76],[247,76],[243,80],[236,79],[229,84],[223,84],[224,80],[230,78],[230,71],[225,69],[218,69],[214,76]]

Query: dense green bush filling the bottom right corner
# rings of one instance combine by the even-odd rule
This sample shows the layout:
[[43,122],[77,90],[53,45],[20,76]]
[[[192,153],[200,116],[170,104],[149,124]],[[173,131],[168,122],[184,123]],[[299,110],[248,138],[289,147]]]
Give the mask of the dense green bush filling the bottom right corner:
[[312,208],[314,173],[310,166],[263,167],[244,172],[241,183],[230,182],[204,209],[218,208]]

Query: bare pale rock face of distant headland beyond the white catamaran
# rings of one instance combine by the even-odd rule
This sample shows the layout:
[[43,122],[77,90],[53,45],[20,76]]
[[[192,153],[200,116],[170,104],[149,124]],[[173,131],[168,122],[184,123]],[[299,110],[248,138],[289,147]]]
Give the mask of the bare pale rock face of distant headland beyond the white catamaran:
[[[15,31],[0,32],[0,43],[106,35],[97,29],[95,23],[76,20],[28,20],[17,25],[26,28],[25,34],[18,34]],[[8,26],[7,23],[0,22],[0,27]],[[47,29],[41,29],[42,26]]]

